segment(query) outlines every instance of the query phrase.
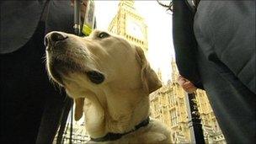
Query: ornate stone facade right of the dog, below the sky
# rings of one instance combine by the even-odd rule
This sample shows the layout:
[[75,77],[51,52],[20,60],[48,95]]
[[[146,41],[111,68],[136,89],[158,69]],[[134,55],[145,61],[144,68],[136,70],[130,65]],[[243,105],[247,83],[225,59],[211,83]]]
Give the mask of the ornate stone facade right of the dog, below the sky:
[[[177,143],[190,142],[187,94],[177,82],[179,72],[175,61],[172,61],[172,68],[171,80],[150,95],[151,116],[163,121],[174,131],[173,137]],[[161,77],[161,72],[157,74]],[[205,142],[226,143],[205,91],[198,89],[194,100],[199,109]]]

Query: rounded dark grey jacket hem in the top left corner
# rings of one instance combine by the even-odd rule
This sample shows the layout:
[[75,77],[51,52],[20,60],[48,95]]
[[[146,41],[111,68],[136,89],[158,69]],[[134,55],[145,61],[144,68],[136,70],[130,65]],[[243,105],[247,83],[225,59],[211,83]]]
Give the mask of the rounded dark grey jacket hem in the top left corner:
[[45,2],[1,2],[1,54],[17,51],[28,42],[40,21]]

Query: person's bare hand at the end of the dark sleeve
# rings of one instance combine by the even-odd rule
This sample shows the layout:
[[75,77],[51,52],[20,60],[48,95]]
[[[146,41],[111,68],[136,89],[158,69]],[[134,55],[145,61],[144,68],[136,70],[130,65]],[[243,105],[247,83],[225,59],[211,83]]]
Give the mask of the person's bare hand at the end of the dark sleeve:
[[197,89],[193,83],[182,76],[178,77],[178,83],[187,93],[194,93]]

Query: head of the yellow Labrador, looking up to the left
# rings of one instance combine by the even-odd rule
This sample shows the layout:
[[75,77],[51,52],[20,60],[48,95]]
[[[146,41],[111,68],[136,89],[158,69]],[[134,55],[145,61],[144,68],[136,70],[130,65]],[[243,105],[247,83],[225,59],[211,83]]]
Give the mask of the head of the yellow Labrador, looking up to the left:
[[120,36],[99,30],[88,37],[54,31],[45,35],[45,45],[50,77],[74,99],[109,89],[141,88],[148,94],[161,87],[142,49]]

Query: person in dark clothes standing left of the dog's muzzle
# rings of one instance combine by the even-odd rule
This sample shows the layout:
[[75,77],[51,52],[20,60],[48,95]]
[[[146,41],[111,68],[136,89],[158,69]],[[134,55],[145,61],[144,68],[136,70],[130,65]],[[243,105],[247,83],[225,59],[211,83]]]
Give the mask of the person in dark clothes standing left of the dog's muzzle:
[[45,33],[72,33],[71,1],[1,1],[1,142],[51,143],[65,103],[45,71]]

